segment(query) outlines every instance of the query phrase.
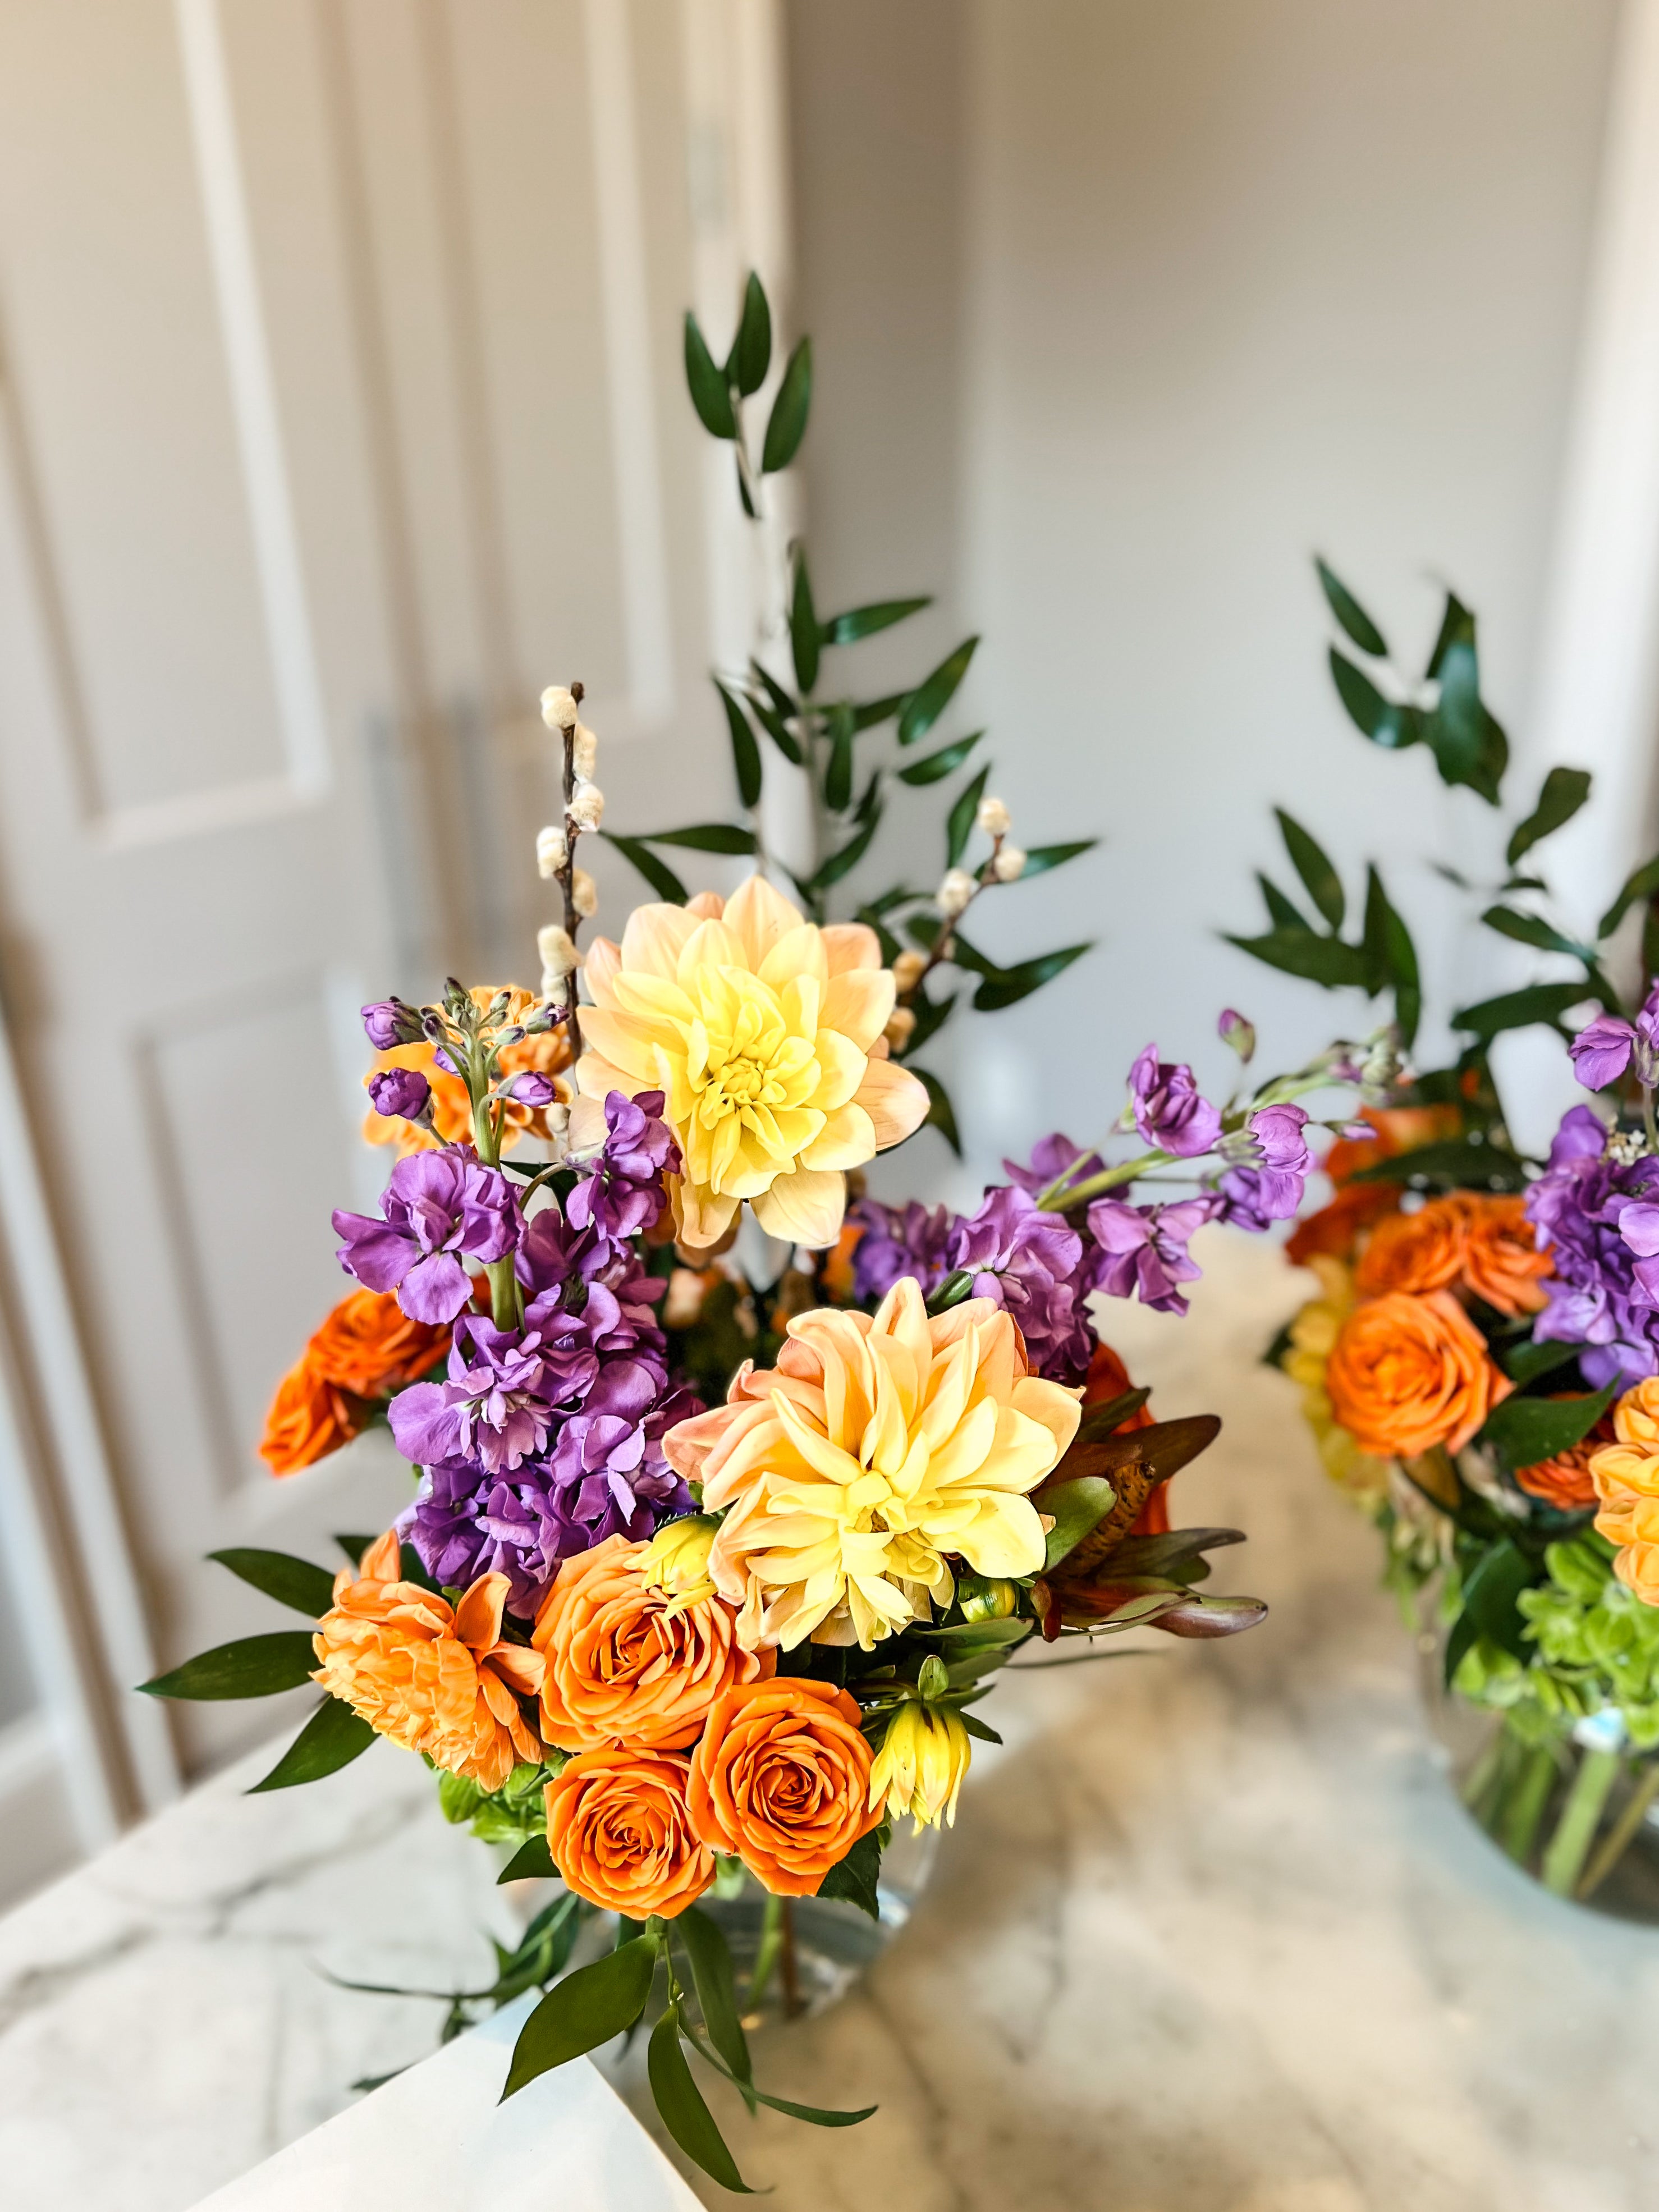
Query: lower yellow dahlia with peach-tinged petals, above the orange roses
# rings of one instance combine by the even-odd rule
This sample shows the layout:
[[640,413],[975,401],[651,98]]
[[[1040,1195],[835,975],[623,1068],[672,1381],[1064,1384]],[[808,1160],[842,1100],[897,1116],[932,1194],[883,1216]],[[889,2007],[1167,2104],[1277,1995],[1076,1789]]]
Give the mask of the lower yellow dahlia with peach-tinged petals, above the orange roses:
[[949,1557],[1033,1575],[1029,1491],[1077,1433],[1077,1394],[1026,1371],[991,1298],[929,1316],[909,1276],[869,1314],[799,1314],[774,1369],[664,1438],[723,1513],[708,1555],[745,1650],[860,1644],[951,1601]]

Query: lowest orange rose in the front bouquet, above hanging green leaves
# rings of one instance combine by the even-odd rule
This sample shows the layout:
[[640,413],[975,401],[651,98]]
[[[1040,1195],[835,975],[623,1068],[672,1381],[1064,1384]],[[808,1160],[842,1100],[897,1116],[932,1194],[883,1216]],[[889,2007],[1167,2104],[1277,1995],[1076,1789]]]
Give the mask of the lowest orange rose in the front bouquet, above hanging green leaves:
[[672,1752],[582,1752],[546,1785],[546,1847],[588,1905],[672,1920],[714,1880],[714,1858],[692,1834],[686,1767]]

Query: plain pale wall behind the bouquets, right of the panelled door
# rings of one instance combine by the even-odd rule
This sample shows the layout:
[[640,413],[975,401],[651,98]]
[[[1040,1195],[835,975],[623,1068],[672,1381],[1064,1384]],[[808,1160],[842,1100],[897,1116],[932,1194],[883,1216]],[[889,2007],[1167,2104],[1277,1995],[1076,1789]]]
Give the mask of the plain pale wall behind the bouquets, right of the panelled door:
[[1365,1020],[1214,938],[1285,874],[1274,799],[1389,869],[1442,1011],[1484,989],[1422,858],[1484,858],[1493,818],[1343,721],[1310,555],[1407,655],[1455,582],[1524,743],[1615,18],[794,7],[821,599],[940,586],[938,635],[987,633],[962,728],[991,721],[1018,834],[1106,838],[978,931],[1104,938],[960,1033],[978,1168],[1102,1130],[1148,1035],[1219,1071],[1221,1002],[1274,1060]]

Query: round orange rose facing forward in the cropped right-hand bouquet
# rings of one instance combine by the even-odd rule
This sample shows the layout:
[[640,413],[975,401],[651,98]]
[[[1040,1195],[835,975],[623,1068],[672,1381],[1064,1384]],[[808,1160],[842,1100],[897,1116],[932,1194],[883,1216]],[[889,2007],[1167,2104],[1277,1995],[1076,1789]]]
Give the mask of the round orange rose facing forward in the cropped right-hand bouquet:
[[1458,1451],[1515,1385],[1444,1290],[1389,1292],[1356,1305],[1325,1367],[1332,1411],[1360,1451],[1416,1460]]

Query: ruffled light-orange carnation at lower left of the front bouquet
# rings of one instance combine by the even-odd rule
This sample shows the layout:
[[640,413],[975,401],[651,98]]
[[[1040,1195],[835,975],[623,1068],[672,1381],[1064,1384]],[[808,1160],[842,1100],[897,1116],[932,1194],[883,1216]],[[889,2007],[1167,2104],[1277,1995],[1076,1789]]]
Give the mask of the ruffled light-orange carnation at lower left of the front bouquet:
[[321,1681],[369,1728],[436,1767],[500,1790],[520,1761],[540,1763],[542,1743],[520,1697],[542,1688],[542,1655],[502,1644],[507,1575],[480,1575],[451,1606],[418,1582],[398,1582],[398,1535],[389,1528],[352,1577],[334,1577],[334,1608],[312,1639]]

